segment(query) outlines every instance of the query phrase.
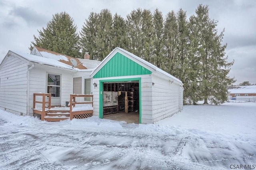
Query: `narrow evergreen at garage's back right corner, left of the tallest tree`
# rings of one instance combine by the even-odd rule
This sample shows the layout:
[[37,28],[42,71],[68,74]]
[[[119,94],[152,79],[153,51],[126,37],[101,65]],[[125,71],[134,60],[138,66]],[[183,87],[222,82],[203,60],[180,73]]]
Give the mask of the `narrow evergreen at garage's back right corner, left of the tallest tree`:
[[194,56],[192,44],[189,40],[189,23],[186,12],[180,9],[177,15],[178,37],[177,53],[174,65],[174,76],[184,83],[184,104],[186,102],[195,104],[198,95],[198,85],[196,77],[198,76],[198,59]]

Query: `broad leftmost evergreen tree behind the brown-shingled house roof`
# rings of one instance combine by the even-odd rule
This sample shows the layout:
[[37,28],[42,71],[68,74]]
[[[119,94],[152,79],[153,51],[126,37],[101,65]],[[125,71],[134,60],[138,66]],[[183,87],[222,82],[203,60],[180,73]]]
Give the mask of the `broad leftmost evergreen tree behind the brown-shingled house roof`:
[[46,28],[43,27],[38,33],[38,37],[34,35],[35,42],[31,42],[30,51],[38,46],[71,57],[81,57],[77,27],[66,12],[53,15]]

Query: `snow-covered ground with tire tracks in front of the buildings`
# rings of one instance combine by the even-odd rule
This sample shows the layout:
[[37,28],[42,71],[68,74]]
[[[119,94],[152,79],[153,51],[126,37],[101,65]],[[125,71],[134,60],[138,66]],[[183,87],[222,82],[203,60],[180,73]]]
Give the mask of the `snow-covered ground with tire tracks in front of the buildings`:
[[184,106],[147,125],[95,116],[46,122],[0,110],[0,169],[256,168],[255,123],[253,102]]

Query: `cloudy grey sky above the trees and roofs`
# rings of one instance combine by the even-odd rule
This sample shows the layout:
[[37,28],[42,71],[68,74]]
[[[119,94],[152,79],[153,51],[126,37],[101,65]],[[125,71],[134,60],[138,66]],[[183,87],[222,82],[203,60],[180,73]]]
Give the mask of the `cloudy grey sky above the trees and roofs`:
[[30,53],[28,47],[46,27],[52,15],[66,11],[81,30],[90,12],[107,8],[126,18],[137,8],[158,8],[163,16],[180,8],[187,17],[195,14],[199,4],[209,6],[210,18],[218,20],[218,31],[224,32],[228,44],[228,61],[235,60],[230,77],[239,84],[256,84],[256,1],[255,0],[0,0],[0,61],[9,50]]

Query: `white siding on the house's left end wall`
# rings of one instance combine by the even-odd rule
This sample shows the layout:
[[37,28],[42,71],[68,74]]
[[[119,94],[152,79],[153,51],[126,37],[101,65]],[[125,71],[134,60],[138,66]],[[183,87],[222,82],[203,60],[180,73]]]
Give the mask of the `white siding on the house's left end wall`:
[[28,62],[10,55],[0,69],[0,107],[16,114],[27,114]]

